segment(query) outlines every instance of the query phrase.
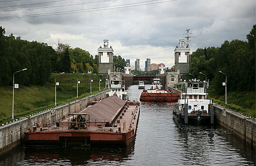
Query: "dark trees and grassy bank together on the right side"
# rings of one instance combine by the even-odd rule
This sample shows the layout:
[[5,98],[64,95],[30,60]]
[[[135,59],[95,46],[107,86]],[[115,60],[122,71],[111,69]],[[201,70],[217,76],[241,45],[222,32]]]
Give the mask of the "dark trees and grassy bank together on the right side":
[[[225,41],[220,47],[198,48],[191,55],[189,71],[197,79],[209,79],[209,96],[225,105],[227,75],[227,107],[255,117],[256,26],[246,35],[248,41]],[[219,71],[225,73],[222,74]]]

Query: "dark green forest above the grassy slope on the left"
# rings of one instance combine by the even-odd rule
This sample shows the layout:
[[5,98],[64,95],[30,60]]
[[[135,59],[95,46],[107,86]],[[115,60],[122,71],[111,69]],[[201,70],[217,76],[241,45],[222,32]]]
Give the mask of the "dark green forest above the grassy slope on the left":
[[72,48],[58,41],[57,48],[47,43],[22,40],[12,34],[5,36],[5,28],[0,27],[0,85],[15,83],[42,85],[49,80],[51,73],[87,73],[91,70],[98,74],[98,56],[95,58],[86,50]]

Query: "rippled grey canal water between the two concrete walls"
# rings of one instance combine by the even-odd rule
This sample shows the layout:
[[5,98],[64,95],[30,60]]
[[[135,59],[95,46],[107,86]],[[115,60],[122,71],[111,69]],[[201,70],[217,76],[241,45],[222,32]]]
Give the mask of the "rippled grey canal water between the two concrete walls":
[[[149,85],[146,86],[146,89]],[[142,90],[128,88],[130,99]],[[141,102],[135,143],[128,147],[65,149],[20,147],[0,157],[0,166],[255,166],[255,150],[217,126],[172,119],[173,103]]]

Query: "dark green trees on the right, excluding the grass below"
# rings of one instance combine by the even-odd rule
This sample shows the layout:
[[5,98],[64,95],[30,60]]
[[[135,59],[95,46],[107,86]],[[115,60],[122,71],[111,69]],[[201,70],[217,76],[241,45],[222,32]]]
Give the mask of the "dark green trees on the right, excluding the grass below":
[[227,75],[228,91],[255,91],[255,55],[256,55],[255,25],[248,35],[247,41],[225,41],[220,47],[198,48],[191,54],[189,71],[200,80],[210,80],[213,91],[225,94],[225,88],[220,88]]

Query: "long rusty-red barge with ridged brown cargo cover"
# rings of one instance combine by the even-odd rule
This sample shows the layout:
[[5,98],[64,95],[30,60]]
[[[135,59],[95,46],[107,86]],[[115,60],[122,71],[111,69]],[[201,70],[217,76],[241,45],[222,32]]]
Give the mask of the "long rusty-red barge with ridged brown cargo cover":
[[[134,141],[140,111],[137,101],[108,97],[54,125],[38,124],[25,132],[27,145],[125,145]],[[45,126],[45,127],[40,127]]]

